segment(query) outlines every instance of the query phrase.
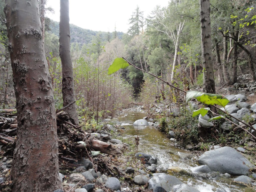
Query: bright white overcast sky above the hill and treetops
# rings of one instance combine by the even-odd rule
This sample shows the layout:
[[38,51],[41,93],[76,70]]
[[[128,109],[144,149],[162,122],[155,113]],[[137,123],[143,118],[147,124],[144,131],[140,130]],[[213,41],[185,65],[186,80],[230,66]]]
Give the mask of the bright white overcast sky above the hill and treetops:
[[[168,5],[168,0],[69,0],[70,23],[91,29],[94,31],[116,31],[127,32],[129,28],[128,19],[137,5],[141,11],[144,11],[146,18],[151,11],[160,5]],[[60,20],[60,1],[48,0],[46,6],[51,6],[55,14],[46,14],[52,20]]]

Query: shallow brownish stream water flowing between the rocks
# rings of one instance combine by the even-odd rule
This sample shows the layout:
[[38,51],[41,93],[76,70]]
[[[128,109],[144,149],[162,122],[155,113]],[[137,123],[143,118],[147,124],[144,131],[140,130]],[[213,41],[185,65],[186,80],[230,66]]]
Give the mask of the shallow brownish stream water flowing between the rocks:
[[198,156],[171,142],[166,135],[159,132],[155,127],[134,127],[132,125],[134,121],[145,116],[145,113],[139,112],[138,109],[129,109],[123,110],[118,120],[122,123],[121,126],[125,128],[125,132],[122,134],[123,137],[135,138],[137,135],[140,137],[138,152],[152,154],[159,158],[158,172],[174,175],[182,182],[197,188],[200,192],[216,191],[219,187],[227,192],[256,191],[255,185],[250,187],[240,186],[231,182],[232,177],[226,178],[225,175],[219,173],[195,176],[168,170],[170,167],[172,167],[172,170],[180,170],[198,166]]

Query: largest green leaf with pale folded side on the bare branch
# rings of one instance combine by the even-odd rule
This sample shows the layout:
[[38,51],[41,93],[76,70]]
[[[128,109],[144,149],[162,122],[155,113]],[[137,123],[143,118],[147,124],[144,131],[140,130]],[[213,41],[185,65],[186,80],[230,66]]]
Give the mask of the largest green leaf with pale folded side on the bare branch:
[[225,107],[229,103],[229,100],[223,95],[204,93],[199,91],[187,91],[186,102],[190,101],[192,98],[195,98],[206,105],[217,104]]

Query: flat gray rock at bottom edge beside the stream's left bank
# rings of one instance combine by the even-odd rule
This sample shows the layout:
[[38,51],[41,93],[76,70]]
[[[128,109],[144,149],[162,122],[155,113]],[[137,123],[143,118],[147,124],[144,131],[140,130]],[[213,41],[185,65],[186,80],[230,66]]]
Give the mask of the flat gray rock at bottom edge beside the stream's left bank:
[[156,185],[163,187],[166,191],[170,191],[174,185],[182,184],[182,182],[172,175],[165,173],[154,173],[153,177],[148,180],[148,188],[154,189]]

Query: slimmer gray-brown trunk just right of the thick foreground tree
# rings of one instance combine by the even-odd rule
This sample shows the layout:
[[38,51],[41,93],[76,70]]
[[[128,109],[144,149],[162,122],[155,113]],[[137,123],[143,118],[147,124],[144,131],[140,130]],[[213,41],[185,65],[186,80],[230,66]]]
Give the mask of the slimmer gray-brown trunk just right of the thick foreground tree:
[[[69,1],[60,0],[60,59],[62,65],[62,98],[63,107],[75,101],[73,66],[70,53]],[[65,112],[78,125],[76,104],[74,103]]]

